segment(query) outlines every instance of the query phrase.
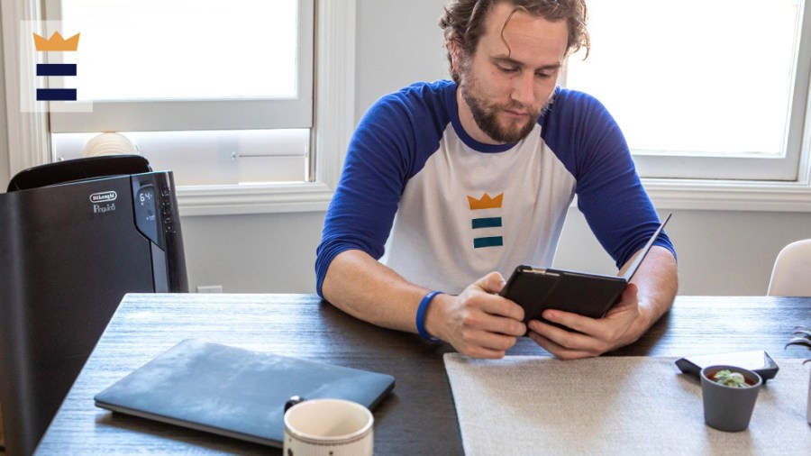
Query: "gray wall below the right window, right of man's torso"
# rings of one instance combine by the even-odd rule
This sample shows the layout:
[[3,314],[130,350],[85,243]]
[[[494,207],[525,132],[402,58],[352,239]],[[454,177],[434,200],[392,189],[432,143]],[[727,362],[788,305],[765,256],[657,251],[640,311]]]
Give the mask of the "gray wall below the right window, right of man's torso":
[[[669,211],[668,234],[679,254],[679,295],[764,295],[780,249],[811,238],[811,214]],[[577,209],[570,209],[556,266],[615,271]]]

